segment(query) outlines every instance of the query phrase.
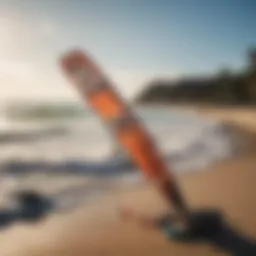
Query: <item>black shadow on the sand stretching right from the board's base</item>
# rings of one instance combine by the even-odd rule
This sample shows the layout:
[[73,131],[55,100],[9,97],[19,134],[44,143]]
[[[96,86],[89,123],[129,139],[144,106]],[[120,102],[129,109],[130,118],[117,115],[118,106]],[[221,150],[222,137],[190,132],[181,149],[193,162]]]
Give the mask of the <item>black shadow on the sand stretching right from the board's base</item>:
[[170,239],[179,242],[205,242],[232,256],[255,256],[256,240],[224,222],[218,211],[199,211],[191,214],[190,228]]

